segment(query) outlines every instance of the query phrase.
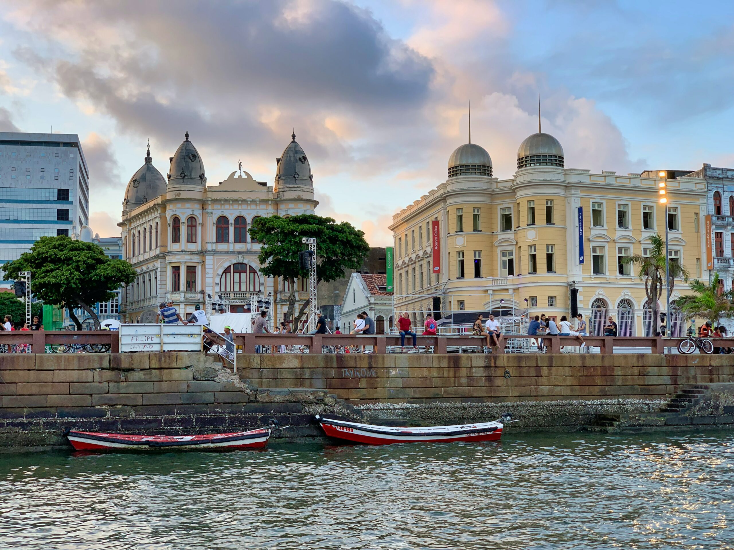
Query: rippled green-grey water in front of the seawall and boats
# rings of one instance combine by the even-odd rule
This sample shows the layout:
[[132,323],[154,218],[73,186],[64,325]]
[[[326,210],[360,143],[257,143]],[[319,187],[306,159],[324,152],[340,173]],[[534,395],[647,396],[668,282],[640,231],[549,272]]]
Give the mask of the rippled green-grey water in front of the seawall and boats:
[[1,549],[730,549],[734,434],[0,455]]

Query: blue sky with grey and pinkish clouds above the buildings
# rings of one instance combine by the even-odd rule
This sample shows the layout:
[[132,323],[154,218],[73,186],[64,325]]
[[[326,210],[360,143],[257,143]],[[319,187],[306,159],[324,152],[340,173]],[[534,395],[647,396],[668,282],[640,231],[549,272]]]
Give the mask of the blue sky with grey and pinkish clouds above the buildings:
[[734,2],[0,0],[0,131],[76,133],[90,226],[119,235],[143,164],[188,128],[217,185],[272,185],[291,132],[316,213],[390,246],[468,139],[512,177],[542,129],[566,166],[734,166]]

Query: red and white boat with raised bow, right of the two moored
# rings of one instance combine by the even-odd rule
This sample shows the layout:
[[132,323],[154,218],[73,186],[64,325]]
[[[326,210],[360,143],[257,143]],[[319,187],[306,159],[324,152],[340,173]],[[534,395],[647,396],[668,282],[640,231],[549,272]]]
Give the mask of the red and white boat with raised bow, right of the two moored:
[[335,418],[316,415],[327,436],[346,439],[355,443],[385,445],[418,441],[498,441],[502,436],[503,422],[509,422],[509,414],[503,414],[495,422],[479,422],[455,426],[430,426],[429,428],[407,428],[358,424]]

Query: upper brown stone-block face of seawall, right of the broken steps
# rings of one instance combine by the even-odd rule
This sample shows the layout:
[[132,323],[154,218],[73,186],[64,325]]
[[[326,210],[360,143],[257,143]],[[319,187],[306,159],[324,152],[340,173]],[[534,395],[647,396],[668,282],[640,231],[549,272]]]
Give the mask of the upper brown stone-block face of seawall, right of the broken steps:
[[681,384],[734,381],[726,355],[247,355],[238,373],[269,388],[326,389],[350,403],[664,400]]

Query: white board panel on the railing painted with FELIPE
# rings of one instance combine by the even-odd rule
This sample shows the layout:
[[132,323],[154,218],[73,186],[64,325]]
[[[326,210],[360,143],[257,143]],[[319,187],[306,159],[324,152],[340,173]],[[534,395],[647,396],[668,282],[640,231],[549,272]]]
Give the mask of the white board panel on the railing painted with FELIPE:
[[123,324],[120,351],[202,351],[202,326]]

